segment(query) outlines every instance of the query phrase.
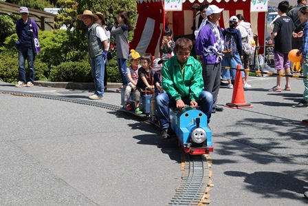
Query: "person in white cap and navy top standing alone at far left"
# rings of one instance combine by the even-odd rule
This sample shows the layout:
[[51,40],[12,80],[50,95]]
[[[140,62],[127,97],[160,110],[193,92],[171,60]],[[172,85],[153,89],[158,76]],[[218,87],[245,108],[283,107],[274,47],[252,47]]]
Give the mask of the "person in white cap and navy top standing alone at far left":
[[[34,20],[29,18],[28,8],[19,8],[21,19],[17,20],[16,32],[18,41],[19,81],[15,87],[32,87],[34,83],[34,60],[35,54],[39,54],[39,29]],[[28,61],[29,77],[25,76],[25,60]]]

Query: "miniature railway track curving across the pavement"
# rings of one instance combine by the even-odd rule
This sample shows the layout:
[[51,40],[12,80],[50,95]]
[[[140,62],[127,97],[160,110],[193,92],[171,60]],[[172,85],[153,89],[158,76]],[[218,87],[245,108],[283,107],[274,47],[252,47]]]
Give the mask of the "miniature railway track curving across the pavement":
[[[52,99],[58,101],[67,101],[70,103],[78,103],[83,105],[91,105],[102,107],[107,110],[126,112],[121,110],[122,107],[110,105],[99,101],[90,101],[85,99],[76,99],[65,96],[56,96],[50,94],[37,94],[32,92],[16,92],[0,90],[0,94],[10,94],[14,96],[38,97],[43,99]],[[130,112],[126,112],[130,113]],[[131,113],[130,113],[131,114]],[[147,121],[148,122],[148,121]],[[153,124],[155,125],[155,124]],[[212,189],[212,181],[210,176],[212,172],[209,167],[212,166],[212,160],[208,155],[194,155],[182,153],[182,181],[177,187],[175,195],[170,200],[169,205],[197,205],[204,206],[210,204],[210,190]]]

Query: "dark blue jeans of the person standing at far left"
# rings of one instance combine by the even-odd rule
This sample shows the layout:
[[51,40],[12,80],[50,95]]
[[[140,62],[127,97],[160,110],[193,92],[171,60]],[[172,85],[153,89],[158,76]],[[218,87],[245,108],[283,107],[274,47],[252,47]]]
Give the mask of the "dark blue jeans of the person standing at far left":
[[[28,61],[29,75],[26,79],[25,77],[25,59]],[[27,83],[28,81],[34,82],[34,59],[35,55],[32,48],[26,48],[23,45],[20,45],[18,49],[18,72],[19,72],[19,81]]]

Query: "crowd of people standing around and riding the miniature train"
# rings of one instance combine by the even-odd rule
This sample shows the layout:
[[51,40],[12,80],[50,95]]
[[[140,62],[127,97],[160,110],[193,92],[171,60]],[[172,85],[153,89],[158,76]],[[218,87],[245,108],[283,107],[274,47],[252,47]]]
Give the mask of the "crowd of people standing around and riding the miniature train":
[[[289,1],[278,4],[280,17],[274,22],[271,39],[274,41],[274,64],[278,74],[291,74],[289,51],[298,49],[303,75],[308,76],[308,9],[306,0],[298,0],[298,6],[287,12]],[[199,107],[208,117],[212,113],[223,112],[217,106],[217,97],[221,85],[221,76],[228,80],[227,87],[232,89],[235,70],[222,67],[249,69],[254,45],[252,29],[242,14],[230,17],[229,28],[219,27],[223,8],[207,3],[201,6],[195,3],[191,8],[194,14],[192,39],[179,38],[173,41],[173,32],[164,31],[159,52],[162,56],[153,59],[152,54],[140,55],[135,50],[129,51],[128,33],[131,27],[125,11],[117,12],[117,24],[111,31],[106,29],[104,15],[93,14],[85,10],[77,19],[87,27],[87,43],[91,59],[91,75],[94,79],[95,92],[89,99],[103,99],[107,89],[107,50],[111,35],[117,45],[116,59],[122,79],[122,86],[117,91],[125,91],[125,106],[131,110],[129,99],[134,91],[135,113],[142,114],[139,107],[140,96],[150,92],[157,111],[162,138],[169,138],[169,107],[181,110],[186,105]],[[19,54],[19,82],[16,87],[32,87],[34,82],[34,59],[40,52],[38,27],[29,16],[29,10],[21,7],[21,19],[17,21],[16,30],[19,41],[16,47]],[[25,72],[25,60],[28,60],[28,76]],[[129,66],[126,61],[129,59]],[[283,71],[284,70],[284,71]],[[248,84],[249,72],[242,72],[243,87]],[[291,90],[290,78],[287,76],[284,90]],[[276,85],[270,92],[282,92],[282,76],[276,77]],[[293,107],[308,107],[308,79],[304,79],[303,99]],[[153,111],[154,112],[154,111]],[[308,192],[305,192],[308,198]]]

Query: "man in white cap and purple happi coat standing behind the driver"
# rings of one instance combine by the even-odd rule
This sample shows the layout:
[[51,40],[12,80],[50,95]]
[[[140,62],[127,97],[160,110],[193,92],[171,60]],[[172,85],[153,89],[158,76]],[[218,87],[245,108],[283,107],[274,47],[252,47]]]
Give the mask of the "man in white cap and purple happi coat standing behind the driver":
[[196,39],[196,52],[202,58],[202,76],[204,90],[213,95],[212,113],[222,112],[223,107],[217,106],[217,96],[221,78],[221,60],[223,59],[223,34],[218,21],[223,8],[215,5],[208,6],[206,16],[208,21],[201,28]]

